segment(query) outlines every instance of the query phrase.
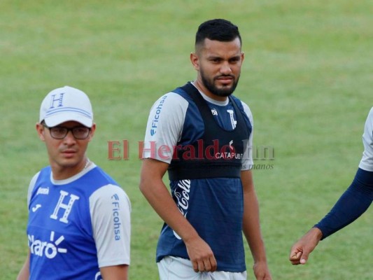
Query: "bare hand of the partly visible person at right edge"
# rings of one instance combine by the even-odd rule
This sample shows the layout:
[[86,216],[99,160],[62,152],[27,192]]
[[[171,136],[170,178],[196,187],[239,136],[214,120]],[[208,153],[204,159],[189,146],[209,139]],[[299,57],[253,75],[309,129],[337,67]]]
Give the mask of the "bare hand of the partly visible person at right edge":
[[321,240],[323,234],[318,228],[311,228],[301,239],[299,239],[291,248],[289,260],[293,265],[304,265],[309,254],[314,251],[318,241]]

